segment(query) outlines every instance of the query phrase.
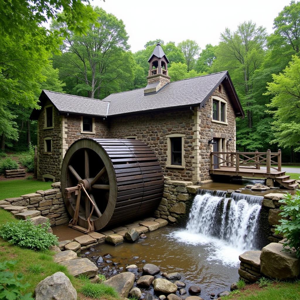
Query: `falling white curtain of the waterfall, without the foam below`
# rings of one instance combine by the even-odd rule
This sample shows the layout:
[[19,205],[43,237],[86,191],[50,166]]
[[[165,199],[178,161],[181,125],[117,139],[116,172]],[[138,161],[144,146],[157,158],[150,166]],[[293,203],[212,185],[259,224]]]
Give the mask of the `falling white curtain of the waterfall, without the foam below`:
[[199,190],[190,210],[186,231],[217,238],[234,248],[256,248],[256,229],[263,197],[224,191]]

